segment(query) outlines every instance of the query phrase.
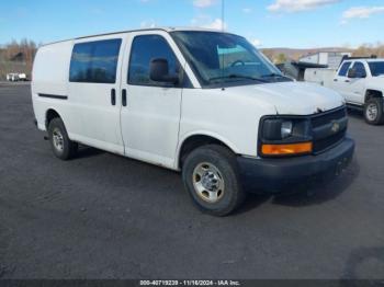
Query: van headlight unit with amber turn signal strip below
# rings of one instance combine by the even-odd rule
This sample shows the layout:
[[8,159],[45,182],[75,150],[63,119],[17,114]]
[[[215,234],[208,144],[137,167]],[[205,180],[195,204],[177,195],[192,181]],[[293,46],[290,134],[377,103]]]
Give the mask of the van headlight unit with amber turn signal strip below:
[[267,116],[259,133],[259,153],[266,157],[308,154],[313,151],[306,117]]

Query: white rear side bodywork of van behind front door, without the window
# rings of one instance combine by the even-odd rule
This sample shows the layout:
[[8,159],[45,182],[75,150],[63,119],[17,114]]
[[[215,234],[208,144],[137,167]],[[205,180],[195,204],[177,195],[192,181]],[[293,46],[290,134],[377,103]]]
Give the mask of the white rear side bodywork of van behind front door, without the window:
[[[32,81],[32,100],[37,127],[46,130],[46,114],[55,111],[61,117],[68,136],[94,148],[124,154],[124,145],[120,130],[121,102],[118,96],[121,77],[121,57],[125,48],[122,42],[116,71],[116,82],[110,87],[99,83],[71,83],[69,69],[74,45],[82,42],[95,42],[110,38],[125,38],[125,34],[103,37],[59,42],[38,49]],[[116,104],[111,105],[111,90],[116,91]],[[114,125],[111,125],[111,118]],[[99,137],[89,133],[99,131]],[[100,136],[101,135],[101,136]],[[112,139],[112,140],[111,140]]]

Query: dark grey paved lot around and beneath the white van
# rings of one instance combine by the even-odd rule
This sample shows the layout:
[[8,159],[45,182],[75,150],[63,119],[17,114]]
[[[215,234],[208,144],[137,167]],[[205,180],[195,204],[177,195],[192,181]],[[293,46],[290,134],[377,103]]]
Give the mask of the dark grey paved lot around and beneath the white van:
[[0,84],[0,278],[384,278],[384,127],[350,116],[335,182],[214,218],[178,173],[83,148],[63,162],[27,84]]

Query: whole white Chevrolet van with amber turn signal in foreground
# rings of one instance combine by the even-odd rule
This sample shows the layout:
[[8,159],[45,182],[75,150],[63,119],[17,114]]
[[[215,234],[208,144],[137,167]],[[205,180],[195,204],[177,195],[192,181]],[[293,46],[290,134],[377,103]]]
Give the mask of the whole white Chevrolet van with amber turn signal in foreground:
[[151,28],[42,46],[32,99],[57,158],[83,144],[181,171],[216,216],[248,191],[334,177],[354,150],[337,92],[292,81],[224,32]]

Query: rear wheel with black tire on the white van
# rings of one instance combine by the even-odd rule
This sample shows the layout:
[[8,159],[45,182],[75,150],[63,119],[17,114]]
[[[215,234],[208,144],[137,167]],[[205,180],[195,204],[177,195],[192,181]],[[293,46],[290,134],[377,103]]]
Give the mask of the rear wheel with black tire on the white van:
[[[78,144],[71,141],[61,118],[56,117],[50,120],[48,136],[54,154],[61,160],[72,159],[78,150]],[[61,142],[61,145],[57,142]],[[60,146],[60,148],[58,147]]]

